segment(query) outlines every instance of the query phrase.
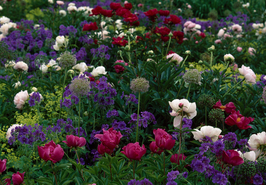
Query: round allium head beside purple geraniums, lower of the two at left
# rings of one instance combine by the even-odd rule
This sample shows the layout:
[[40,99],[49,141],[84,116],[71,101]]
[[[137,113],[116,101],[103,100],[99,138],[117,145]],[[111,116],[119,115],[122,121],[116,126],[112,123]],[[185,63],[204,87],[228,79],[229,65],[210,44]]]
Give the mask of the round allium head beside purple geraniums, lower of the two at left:
[[87,78],[74,78],[69,85],[69,89],[75,96],[87,95],[90,91],[90,81]]

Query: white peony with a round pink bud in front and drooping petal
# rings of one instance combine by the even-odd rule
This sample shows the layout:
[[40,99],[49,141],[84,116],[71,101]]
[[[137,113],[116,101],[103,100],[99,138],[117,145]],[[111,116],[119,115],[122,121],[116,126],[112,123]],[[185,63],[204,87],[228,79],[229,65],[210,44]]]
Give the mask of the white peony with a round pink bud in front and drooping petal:
[[[170,107],[173,109],[173,111],[170,113],[171,116],[176,116],[174,118],[174,128],[180,127],[180,122],[183,118],[187,117],[188,119],[192,119],[197,115],[196,111],[196,103],[190,103],[187,99],[175,99],[172,102],[169,102]],[[182,111],[182,108],[183,111]]]

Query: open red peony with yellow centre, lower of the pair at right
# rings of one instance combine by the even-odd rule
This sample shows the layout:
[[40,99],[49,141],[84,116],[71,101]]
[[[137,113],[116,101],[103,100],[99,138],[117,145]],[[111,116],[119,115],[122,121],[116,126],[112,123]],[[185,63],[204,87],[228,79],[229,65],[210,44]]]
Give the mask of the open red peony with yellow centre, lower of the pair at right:
[[225,119],[225,123],[230,126],[236,125],[239,129],[248,129],[251,128],[248,124],[253,120],[254,118],[244,117],[239,111],[232,110],[232,114]]

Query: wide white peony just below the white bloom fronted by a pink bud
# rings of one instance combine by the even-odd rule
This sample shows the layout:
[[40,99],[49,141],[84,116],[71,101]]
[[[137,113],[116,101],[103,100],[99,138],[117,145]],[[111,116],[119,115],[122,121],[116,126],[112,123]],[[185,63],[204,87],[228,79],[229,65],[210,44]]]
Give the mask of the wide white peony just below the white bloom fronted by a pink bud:
[[215,142],[218,140],[218,136],[222,132],[221,129],[214,128],[212,126],[203,126],[200,128],[200,130],[198,129],[194,129],[194,130],[196,131],[193,131],[191,133],[194,135],[194,139],[199,140],[200,142],[202,142],[202,139],[205,138],[205,136],[210,137],[211,140]]

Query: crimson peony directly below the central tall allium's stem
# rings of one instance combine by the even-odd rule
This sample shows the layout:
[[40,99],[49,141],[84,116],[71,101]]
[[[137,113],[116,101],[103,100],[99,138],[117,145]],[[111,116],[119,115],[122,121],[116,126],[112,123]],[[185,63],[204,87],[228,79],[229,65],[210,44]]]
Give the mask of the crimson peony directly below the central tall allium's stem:
[[140,147],[139,142],[135,143],[128,143],[126,146],[122,148],[124,151],[122,151],[122,154],[125,154],[126,157],[132,161],[132,160],[140,160],[142,156],[146,153],[146,148],[144,145]]

